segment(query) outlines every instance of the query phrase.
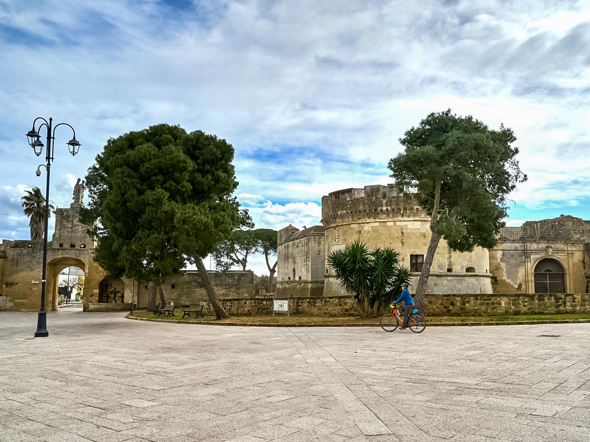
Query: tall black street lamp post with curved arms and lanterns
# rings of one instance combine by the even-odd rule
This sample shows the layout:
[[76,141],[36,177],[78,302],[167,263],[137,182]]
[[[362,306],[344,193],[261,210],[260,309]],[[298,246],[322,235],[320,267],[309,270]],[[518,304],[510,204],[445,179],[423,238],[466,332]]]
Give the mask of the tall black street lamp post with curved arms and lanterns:
[[29,141],[29,146],[33,148],[35,151],[35,155],[40,156],[43,151],[43,142],[41,141],[41,136],[37,130],[35,130],[35,123],[37,120],[42,120],[41,126],[39,126],[39,131],[43,127],[47,129],[47,149],[45,150],[45,160],[47,160],[47,164],[41,164],[37,167],[37,176],[41,175],[40,168],[45,167],[47,170],[47,186],[45,187],[45,219],[44,219],[44,230],[43,230],[43,269],[42,269],[42,276],[41,276],[41,309],[39,310],[39,315],[37,316],[37,331],[35,331],[35,338],[41,338],[49,336],[49,332],[47,331],[47,312],[45,311],[45,278],[47,276],[47,224],[49,219],[49,172],[51,169],[51,161],[53,161],[53,151],[54,151],[54,143],[55,140],[55,129],[59,126],[68,126],[74,133],[74,137],[68,141],[66,144],[68,145],[68,149],[72,156],[78,153],[78,149],[80,149],[81,144],[76,140],[76,131],[73,127],[71,127],[67,123],[60,123],[57,124],[55,127],[52,127],[51,124],[53,123],[53,118],[50,118],[49,121],[45,120],[45,118],[37,117],[33,121],[33,127],[27,133],[27,139]]

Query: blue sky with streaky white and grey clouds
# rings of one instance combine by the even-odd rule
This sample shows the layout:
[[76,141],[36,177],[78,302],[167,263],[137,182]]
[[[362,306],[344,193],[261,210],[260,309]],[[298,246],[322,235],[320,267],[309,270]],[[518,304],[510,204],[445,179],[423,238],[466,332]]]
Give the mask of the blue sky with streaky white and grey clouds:
[[0,0],[0,239],[30,238],[20,198],[45,189],[36,117],[82,144],[57,128],[56,207],[109,138],[169,123],[234,146],[256,227],[309,227],[451,108],[517,137],[507,225],[590,220],[589,47],[588,0]]

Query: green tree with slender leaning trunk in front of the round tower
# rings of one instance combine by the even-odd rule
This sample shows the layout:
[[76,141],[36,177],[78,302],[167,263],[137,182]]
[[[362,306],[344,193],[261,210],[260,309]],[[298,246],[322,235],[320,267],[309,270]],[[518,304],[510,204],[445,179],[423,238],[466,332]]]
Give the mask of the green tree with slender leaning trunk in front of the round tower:
[[510,128],[492,130],[450,109],[431,113],[400,138],[405,150],[389,161],[391,176],[430,215],[431,239],[415,292],[420,308],[441,238],[458,252],[496,244],[507,197],[527,179],[514,141]]

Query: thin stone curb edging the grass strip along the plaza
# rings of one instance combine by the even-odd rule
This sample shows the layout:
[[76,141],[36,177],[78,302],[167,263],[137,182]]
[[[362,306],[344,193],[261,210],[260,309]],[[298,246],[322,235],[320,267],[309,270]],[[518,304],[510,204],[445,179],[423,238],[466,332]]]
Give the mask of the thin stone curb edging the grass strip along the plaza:
[[[179,319],[155,319],[155,318],[137,318],[127,313],[127,319],[148,322],[167,322],[168,324],[197,324],[197,325],[227,325],[234,327],[378,327],[376,324],[254,324],[248,322],[240,324],[238,322],[207,322],[207,321],[183,321]],[[429,327],[457,327],[457,326],[480,326],[480,325],[538,325],[538,324],[588,324],[590,319],[556,319],[555,321],[496,321],[496,322],[426,322]]]

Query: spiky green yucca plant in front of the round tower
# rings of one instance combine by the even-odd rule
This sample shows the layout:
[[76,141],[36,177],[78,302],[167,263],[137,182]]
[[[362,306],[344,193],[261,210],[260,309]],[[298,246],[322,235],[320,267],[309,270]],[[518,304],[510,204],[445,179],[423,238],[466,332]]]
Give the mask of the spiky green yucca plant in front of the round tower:
[[391,304],[401,294],[402,283],[410,278],[409,268],[399,265],[399,253],[394,249],[371,250],[360,241],[330,253],[328,263],[362,318],[378,316],[382,306]]

